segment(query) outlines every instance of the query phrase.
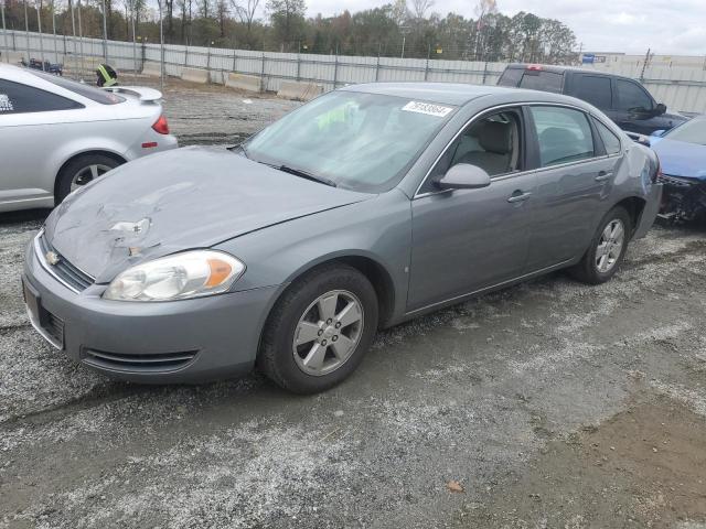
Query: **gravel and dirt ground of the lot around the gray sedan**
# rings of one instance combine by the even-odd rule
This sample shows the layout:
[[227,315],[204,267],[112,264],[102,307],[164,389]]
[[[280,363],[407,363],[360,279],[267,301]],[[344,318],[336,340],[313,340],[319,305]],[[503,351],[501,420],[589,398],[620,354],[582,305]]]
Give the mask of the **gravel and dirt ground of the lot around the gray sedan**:
[[[188,142],[296,105],[167,94]],[[703,228],[653,229],[605,285],[555,273],[395,327],[293,397],[54,353],[19,288],[42,218],[0,217],[0,528],[706,528]]]

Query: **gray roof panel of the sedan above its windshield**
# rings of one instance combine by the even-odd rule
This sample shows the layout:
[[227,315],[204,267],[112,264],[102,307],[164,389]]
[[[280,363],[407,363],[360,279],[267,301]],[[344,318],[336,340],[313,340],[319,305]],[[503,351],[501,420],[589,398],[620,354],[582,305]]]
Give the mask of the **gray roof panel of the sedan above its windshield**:
[[421,99],[424,101],[445,105],[461,106],[472,99],[482,96],[512,94],[517,88],[507,88],[493,85],[469,85],[462,83],[365,83],[350,85],[343,90],[364,91],[367,94],[381,94],[384,96],[404,97],[407,99]]

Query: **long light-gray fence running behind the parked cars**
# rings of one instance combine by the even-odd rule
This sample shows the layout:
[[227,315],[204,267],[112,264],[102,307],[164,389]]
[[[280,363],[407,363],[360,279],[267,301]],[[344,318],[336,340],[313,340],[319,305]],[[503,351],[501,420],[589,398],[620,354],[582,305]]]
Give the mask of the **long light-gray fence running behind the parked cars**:
[[[184,68],[207,72],[212,83],[224,83],[227,74],[257,76],[260,87],[277,91],[284,80],[321,85],[324,90],[353,83],[429,80],[494,85],[505,63],[448,61],[437,56],[402,58],[385,56],[319,55],[229,50],[211,46],[184,46],[156,43],[104,41],[101,39],[47,35],[7,31],[0,39],[2,55],[9,62],[43,60],[61,63],[65,75],[93,82],[100,62],[120,72],[120,77],[137,78],[146,65],[179,77]],[[616,58],[587,66],[639,79],[660,102],[687,114],[706,112],[706,67],[704,62],[672,61],[644,64],[640,60]],[[693,64],[692,64],[693,63]],[[154,68],[151,68],[152,72]]]

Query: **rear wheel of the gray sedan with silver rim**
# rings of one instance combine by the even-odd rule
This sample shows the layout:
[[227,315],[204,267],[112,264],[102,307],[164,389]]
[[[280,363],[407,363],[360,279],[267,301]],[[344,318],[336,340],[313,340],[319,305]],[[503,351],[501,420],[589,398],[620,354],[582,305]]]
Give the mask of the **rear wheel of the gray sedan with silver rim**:
[[598,226],[582,259],[569,269],[571,276],[589,284],[600,284],[611,279],[625,256],[631,233],[632,223],[625,208],[613,207]]

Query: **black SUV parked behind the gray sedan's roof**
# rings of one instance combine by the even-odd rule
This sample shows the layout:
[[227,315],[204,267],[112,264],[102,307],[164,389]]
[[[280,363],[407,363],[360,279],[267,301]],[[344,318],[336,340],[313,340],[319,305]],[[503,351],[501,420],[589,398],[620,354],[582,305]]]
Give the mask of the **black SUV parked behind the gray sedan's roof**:
[[637,80],[592,69],[538,64],[510,64],[498,80],[500,86],[532,88],[566,94],[602,110],[618,127],[650,136],[687,120],[680,114],[667,114]]

